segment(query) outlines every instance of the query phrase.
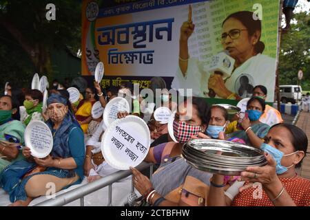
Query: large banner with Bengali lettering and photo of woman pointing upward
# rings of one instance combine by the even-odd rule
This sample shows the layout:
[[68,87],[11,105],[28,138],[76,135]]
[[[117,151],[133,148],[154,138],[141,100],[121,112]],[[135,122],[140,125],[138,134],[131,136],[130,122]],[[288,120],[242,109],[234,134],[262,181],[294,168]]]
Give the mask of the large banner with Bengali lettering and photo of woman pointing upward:
[[[83,1],[82,74],[104,63],[103,87],[124,80],[240,100],[265,85],[273,102],[280,0],[149,0],[113,8]],[[223,101],[225,102],[225,101]]]

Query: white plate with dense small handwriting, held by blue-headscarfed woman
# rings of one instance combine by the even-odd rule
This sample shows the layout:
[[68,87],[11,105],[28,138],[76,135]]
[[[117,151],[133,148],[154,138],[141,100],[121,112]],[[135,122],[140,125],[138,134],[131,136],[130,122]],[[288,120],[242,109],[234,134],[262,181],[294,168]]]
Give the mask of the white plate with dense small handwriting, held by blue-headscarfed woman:
[[53,136],[47,124],[39,120],[31,121],[25,129],[25,146],[28,146],[31,155],[44,158],[53,148]]

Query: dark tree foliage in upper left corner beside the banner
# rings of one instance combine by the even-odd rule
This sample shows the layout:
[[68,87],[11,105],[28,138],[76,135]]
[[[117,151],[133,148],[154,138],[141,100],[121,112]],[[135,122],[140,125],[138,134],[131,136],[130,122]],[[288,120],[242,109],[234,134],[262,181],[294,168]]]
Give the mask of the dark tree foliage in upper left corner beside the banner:
[[[56,6],[55,21],[48,21],[45,17],[48,3],[54,3]],[[80,48],[81,1],[0,0],[0,30],[0,45],[7,45],[1,49],[6,50],[6,54],[15,63],[19,65],[19,61],[14,58],[12,47],[18,44],[20,47],[17,49],[28,56],[34,71],[52,78],[50,52],[67,47],[76,54]]]

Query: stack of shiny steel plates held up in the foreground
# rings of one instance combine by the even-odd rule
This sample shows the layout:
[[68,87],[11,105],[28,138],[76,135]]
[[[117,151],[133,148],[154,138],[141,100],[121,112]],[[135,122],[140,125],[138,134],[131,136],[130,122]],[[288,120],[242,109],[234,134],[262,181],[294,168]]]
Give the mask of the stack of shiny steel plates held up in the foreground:
[[264,152],[258,148],[225,140],[194,139],[183,145],[182,155],[198,170],[236,176],[248,166],[264,166]]

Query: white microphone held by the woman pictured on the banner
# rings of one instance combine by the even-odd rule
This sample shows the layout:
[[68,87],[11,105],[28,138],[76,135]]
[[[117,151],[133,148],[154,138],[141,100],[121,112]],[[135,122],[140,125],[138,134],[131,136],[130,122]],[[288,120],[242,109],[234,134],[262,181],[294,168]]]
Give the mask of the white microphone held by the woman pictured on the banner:
[[[229,56],[229,52],[227,50],[224,50],[223,52],[212,56],[207,72],[219,74],[223,79],[225,79],[231,75],[231,72],[234,69],[234,64],[234,58]],[[209,89],[208,95],[210,98],[214,98],[216,93],[213,89]]]

